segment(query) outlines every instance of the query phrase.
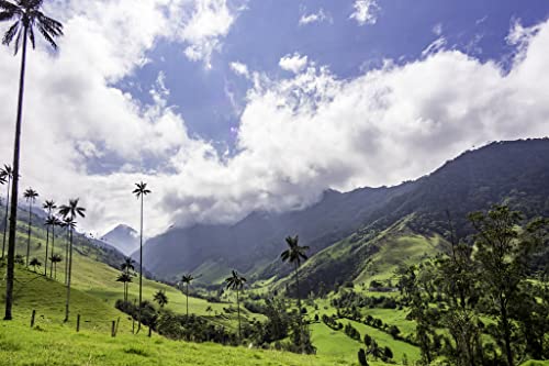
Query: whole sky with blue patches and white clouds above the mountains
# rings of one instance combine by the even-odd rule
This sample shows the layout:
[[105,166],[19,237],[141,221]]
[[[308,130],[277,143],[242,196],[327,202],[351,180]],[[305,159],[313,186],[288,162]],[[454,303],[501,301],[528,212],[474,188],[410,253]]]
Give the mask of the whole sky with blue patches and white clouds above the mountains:
[[[29,53],[21,188],[79,197],[86,231],[138,228],[142,180],[152,236],[549,135],[546,0],[45,0],[44,12],[65,35]],[[19,57],[0,49],[4,164]]]

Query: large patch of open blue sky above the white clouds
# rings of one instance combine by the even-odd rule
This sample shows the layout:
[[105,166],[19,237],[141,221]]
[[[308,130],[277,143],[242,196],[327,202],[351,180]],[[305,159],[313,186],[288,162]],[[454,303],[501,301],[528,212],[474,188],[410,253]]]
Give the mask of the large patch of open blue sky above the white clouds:
[[[234,149],[231,127],[239,122],[250,82],[232,71],[232,62],[250,70],[283,78],[281,57],[299,53],[326,65],[338,78],[354,78],[384,59],[403,64],[422,58],[422,52],[444,37],[445,48],[460,49],[482,62],[505,64],[514,48],[505,37],[514,21],[529,26],[544,21],[545,0],[378,0],[373,24],[359,24],[350,15],[352,0],[248,1],[212,56],[211,68],[186,57],[178,43],[159,42],[144,67],[117,84],[143,103],[159,73],[171,91],[170,106],[180,111],[191,134],[211,140],[223,151]],[[525,5],[525,3],[527,5]],[[240,2],[242,5],[242,2]],[[321,12],[326,19],[300,24],[300,19]],[[229,96],[231,95],[231,96]],[[233,101],[232,101],[233,98]]]

